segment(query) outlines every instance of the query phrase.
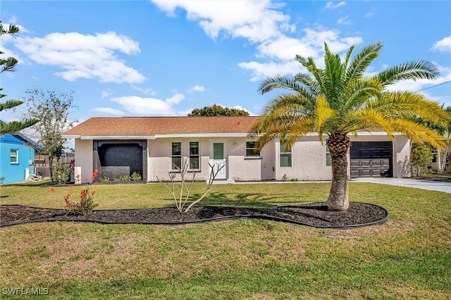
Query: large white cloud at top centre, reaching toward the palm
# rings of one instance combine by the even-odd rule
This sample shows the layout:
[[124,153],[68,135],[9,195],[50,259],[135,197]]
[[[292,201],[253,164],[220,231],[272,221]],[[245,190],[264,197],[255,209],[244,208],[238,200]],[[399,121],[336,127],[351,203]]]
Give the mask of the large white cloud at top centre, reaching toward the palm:
[[[256,58],[263,61],[239,63],[238,66],[249,70],[251,81],[260,80],[271,75],[286,75],[299,72],[297,54],[304,57],[320,58],[324,42],[330,49],[340,52],[354,44],[362,42],[361,37],[340,37],[340,32],[320,26],[304,30],[304,37],[290,37],[296,32],[296,25],[290,24],[290,16],[280,11],[285,4],[270,0],[249,1],[200,1],[200,0],[152,0],[156,6],[171,17],[180,11],[186,11],[187,20],[197,22],[206,35],[216,39],[224,37],[242,37],[257,44]],[[335,9],[345,6],[346,2],[327,4]],[[344,18],[343,24],[349,23]],[[319,59],[318,59],[319,61]],[[321,63],[321,62],[319,62]]]

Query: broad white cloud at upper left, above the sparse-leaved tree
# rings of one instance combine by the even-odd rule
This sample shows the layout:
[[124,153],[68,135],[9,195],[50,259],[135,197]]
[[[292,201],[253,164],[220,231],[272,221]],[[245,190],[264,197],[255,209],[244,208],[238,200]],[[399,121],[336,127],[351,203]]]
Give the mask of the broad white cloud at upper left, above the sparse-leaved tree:
[[138,83],[145,79],[117,55],[139,54],[139,44],[116,32],[54,32],[42,38],[18,37],[16,46],[32,61],[62,68],[64,71],[55,74],[69,81],[96,78],[99,82]]

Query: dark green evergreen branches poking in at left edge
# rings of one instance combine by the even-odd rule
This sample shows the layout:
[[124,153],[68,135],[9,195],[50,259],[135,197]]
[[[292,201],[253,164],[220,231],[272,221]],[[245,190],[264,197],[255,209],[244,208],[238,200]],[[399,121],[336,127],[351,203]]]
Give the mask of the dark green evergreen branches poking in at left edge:
[[[1,35],[13,35],[16,37],[16,33],[19,32],[19,27],[13,24],[10,24],[8,28],[3,26],[3,23],[0,20],[0,36]],[[4,54],[3,51],[0,51],[0,55]],[[7,57],[7,58],[0,58],[0,73],[3,72],[13,72],[16,70],[16,65],[18,63],[18,60],[13,57]],[[0,91],[3,89],[0,88]],[[0,99],[3,98],[4,94],[0,94]],[[0,103],[0,111],[4,111],[8,108],[13,108],[16,106],[19,106],[20,104],[23,104],[23,101],[18,100],[7,100],[4,103]],[[23,130],[27,127],[30,127],[32,125],[35,125],[39,120],[32,119],[32,118],[25,118],[24,120],[20,121],[11,121],[9,123],[6,122],[0,122],[0,135],[6,135],[8,133],[11,134],[17,134],[20,130]]]

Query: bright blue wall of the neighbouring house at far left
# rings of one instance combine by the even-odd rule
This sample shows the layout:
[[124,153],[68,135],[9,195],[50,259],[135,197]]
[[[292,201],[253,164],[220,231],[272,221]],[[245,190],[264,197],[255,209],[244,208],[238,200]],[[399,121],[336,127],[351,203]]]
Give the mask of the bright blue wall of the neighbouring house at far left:
[[[11,149],[18,150],[18,163],[11,163]],[[25,169],[29,168],[29,175],[34,173],[30,161],[35,161],[35,149],[27,146],[23,139],[15,135],[0,137],[0,177],[5,177],[4,183],[25,180]]]

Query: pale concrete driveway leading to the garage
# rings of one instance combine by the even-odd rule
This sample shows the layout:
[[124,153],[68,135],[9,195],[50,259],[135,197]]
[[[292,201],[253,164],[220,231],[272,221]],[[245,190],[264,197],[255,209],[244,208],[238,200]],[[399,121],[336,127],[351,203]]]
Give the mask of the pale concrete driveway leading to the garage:
[[399,185],[400,187],[415,187],[416,189],[429,189],[431,191],[451,193],[451,182],[386,177],[360,177],[352,178],[350,181],[380,183],[382,185]]

